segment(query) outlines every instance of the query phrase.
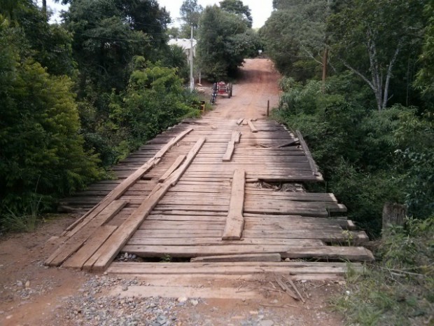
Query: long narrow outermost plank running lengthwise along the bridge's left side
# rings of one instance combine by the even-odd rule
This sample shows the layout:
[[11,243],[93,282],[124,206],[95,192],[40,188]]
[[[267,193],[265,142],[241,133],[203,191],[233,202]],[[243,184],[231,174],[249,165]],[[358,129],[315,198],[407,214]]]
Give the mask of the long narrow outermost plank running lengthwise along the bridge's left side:
[[137,169],[136,172],[132,173],[132,175],[127,177],[127,179],[123,180],[123,182],[118,184],[118,186],[116,186],[116,188],[113,189],[100,203],[95,205],[94,208],[92,208],[92,210],[90,210],[85,215],[83,215],[83,217],[81,217],[78,222],[71,224],[71,226],[69,226],[66,229],[66,231],[70,231],[69,233],[66,234],[66,236],[73,236],[73,234],[75,234],[78,230],[83,228],[83,226],[85,226],[95,216],[97,216],[100,212],[102,212],[104,208],[110,205],[111,202],[119,199],[120,196],[122,196],[123,193],[125,193],[125,191],[127,191],[127,189],[130,188],[132,184],[137,182],[137,180],[141,179],[141,177],[143,177],[143,175],[146,172],[148,172],[148,170],[151,170],[151,168],[157,165],[161,161],[162,156],[164,156],[167,153],[167,151],[169,151],[169,149],[171,149],[174,146],[174,144],[182,140],[183,137],[188,135],[188,133],[190,133],[191,131],[193,131],[193,128],[189,128],[183,131],[183,133],[174,137],[174,139],[172,139],[164,147],[162,147],[162,149],[160,149],[160,151],[158,151],[157,154],[153,156],[153,158],[151,158],[148,162],[146,162],[139,169]]

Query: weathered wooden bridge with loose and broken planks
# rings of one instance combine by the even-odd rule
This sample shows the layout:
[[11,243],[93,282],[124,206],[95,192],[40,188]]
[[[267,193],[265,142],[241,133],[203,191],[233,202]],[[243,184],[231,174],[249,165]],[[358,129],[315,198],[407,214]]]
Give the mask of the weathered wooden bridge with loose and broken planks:
[[[335,276],[372,260],[300,133],[272,121],[184,121],[130,155],[118,180],[64,200],[89,209],[55,242],[48,266],[132,274]],[[120,255],[137,259],[123,262]],[[176,262],[156,262],[166,257]]]

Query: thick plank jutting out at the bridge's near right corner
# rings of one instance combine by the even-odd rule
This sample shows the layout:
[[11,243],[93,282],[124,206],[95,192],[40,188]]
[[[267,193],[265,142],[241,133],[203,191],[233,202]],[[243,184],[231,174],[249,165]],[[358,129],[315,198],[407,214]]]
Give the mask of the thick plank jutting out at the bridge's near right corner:
[[372,262],[374,255],[365,247],[292,247],[288,252],[281,253],[282,258],[314,258],[314,259],[344,259],[356,262]]

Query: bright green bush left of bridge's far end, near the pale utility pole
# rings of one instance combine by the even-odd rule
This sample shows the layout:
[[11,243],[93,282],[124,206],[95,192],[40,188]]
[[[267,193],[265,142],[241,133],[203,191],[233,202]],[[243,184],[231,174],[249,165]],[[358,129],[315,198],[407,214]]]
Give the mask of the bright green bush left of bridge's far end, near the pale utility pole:
[[200,100],[182,86],[177,69],[150,64],[137,57],[136,70],[121,95],[112,94],[112,133],[123,139],[118,148],[136,149],[169,126],[186,117],[199,115]]

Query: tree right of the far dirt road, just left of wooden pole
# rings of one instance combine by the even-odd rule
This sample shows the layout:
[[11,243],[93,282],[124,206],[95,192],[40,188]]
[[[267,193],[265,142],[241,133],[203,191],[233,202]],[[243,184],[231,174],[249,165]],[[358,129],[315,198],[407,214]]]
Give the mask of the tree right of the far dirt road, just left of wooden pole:
[[274,4],[260,35],[267,53],[283,74],[306,79],[328,67],[328,34],[325,22],[330,15],[326,0],[291,0]]

